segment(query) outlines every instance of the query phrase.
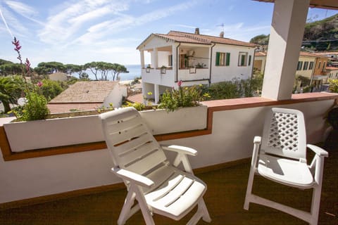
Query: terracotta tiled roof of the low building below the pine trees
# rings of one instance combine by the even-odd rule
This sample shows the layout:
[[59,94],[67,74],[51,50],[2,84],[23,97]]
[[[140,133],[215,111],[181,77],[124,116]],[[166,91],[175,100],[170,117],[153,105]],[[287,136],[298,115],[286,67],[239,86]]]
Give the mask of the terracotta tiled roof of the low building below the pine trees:
[[76,82],[49,103],[103,103],[118,82]]

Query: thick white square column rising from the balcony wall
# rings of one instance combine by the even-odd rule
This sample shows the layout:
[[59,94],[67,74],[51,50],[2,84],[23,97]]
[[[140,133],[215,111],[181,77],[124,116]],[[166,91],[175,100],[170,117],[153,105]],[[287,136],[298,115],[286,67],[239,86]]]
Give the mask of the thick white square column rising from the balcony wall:
[[275,0],[262,97],[290,99],[310,0]]

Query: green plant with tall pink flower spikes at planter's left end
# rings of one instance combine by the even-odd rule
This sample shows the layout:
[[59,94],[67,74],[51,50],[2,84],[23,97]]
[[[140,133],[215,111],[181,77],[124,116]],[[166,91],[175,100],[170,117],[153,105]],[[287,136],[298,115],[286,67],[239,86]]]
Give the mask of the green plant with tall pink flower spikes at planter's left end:
[[[17,58],[20,61],[20,65],[23,66],[23,60],[20,53],[20,41],[14,37],[12,44],[15,46],[14,50],[18,53]],[[47,115],[49,115],[49,110],[47,108],[47,100],[40,90],[42,82],[32,84],[27,82],[26,79],[26,75],[31,75],[30,60],[28,60],[28,58],[25,60],[25,67],[23,66],[22,75],[25,80],[23,98],[19,98],[18,107],[13,108],[12,113],[17,117],[18,121],[46,119]]]

